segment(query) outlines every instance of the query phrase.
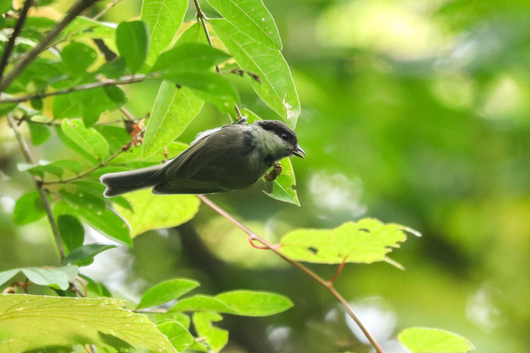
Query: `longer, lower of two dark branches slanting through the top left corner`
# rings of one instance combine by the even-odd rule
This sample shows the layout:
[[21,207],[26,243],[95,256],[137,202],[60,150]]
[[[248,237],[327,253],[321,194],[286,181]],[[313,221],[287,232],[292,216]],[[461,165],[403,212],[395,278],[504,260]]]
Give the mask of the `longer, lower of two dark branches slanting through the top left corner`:
[[32,62],[37,56],[46,48],[48,45],[59,35],[61,31],[64,30],[64,28],[68,25],[68,23],[72,22],[75,17],[83,12],[85,8],[95,4],[99,0],[77,0],[77,2],[70,7],[68,10],[66,16],[61,20],[59,23],[55,25],[54,28],[51,29],[51,31],[46,35],[45,38],[43,38],[33,49],[31,49],[29,52],[27,52],[20,60],[19,64],[13,68],[3,79],[0,81],[0,92],[3,92],[4,89],[6,89],[7,86],[11,85],[13,80],[18,77],[22,71]]

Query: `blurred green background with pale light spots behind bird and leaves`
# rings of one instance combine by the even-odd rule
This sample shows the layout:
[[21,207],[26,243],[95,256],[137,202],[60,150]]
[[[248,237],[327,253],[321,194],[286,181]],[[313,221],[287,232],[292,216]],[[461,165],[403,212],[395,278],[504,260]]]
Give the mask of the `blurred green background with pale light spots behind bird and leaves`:
[[[70,3],[54,6],[64,11]],[[417,229],[422,238],[409,237],[391,254],[407,270],[348,264],[336,282],[386,353],[404,352],[395,335],[413,325],[462,334],[479,352],[527,353],[530,4],[265,4],[277,21],[302,104],[296,132],[308,157],[293,159],[302,206],[272,200],[261,182],[211,198],[271,241],[291,229],[332,228],[363,216]],[[103,19],[130,20],[140,7],[140,0],[122,0]],[[194,16],[190,8],[185,21]],[[260,103],[248,78],[229,78],[243,107],[279,119]],[[133,113],[151,110],[156,83],[124,89]],[[190,142],[199,131],[226,123],[226,116],[206,106],[179,140]],[[55,265],[46,221],[22,228],[11,221],[13,200],[32,183],[16,170],[22,157],[2,124],[0,270]],[[72,155],[56,137],[33,150],[48,160]],[[107,241],[95,232],[92,237]],[[310,267],[326,278],[336,269]],[[138,236],[133,249],[105,252],[82,273],[131,300],[173,277],[199,280],[200,293],[246,288],[293,300],[293,309],[268,318],[225,316],[219,325],[230,336],[223,352],[370,351],[323,287],[272,252],[251,248],[243,233],[204,205],[191,222]]]

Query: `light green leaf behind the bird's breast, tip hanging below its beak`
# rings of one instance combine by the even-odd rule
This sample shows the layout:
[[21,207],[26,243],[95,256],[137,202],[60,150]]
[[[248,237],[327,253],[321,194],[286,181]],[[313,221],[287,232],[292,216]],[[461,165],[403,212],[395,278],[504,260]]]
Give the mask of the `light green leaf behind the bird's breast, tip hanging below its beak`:
[[[241,110],[241,114],[243,114],[243,116],[246,116],[249,124],[261,120],[258,115],[254,114],[246,108],[243,108]],[[293,170],[293,164],[291,164],[291,160],[289,158],[282,159],[281,168],[281,174],[274,180],[272,184],[272,192],[269,193],[264,191],[264,193],[272,198],[275,198],[276,200],[292,203],[299,206],[300,202],[298,201],[298,194],[294,189],[294,186],[296,186],[296,178],[295,172]]]

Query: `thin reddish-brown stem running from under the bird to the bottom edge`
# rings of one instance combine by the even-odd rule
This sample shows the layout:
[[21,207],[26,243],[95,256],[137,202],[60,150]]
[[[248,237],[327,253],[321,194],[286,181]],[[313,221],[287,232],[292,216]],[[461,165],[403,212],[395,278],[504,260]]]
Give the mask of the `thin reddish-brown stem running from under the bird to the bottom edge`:
[[258,240],[259,242],[261,242],[264,246],[266,246],[267,248],[269,248],[270,250],[274,251],[276,253],[276,255],[278,255],[279,257],[281,257],[282,259],[284,259],[285,261],[287,261],[289,264],[297,267],[298,269],[304,271],[307,275],[313,277],[316,282],[320,283],[321,285],[323,285],[324,287],[326,287],[328,289],[328,291],[330,291],[330,293],[335,297],[337,298],[337,300],[345,307],[346,311],[348,312],[348,315],[350,315],[350,317],[355,321],[355,323],[358,325],[358,327],[361,329],[361,331],[363,331],[364,335],[366,336],[366,338],[370,341],[370,343],[372,343],[372,346],[374,346],[375,350],[377,351],[377,353],[384,353],[383,349],[381,348],[381,346],[379,346],[379,343],[377,343],[377,341],[374,339],[374,337],[372,337],[372,335],[368,332],[368,330],[366,329],[366,327],[363,325],[363,323],[359,320],[359,318],[357,317],[357,315],[355,314],[354,310],[352,309],[352,307],[350,306],[350,304],[345,300],[345,298],[342,297],[342,295],[340,295],[339,292],[337,292],[337,289],[335,289],[333,287],[333,283],[330,282],[330,281],[326,281],[325,279],[323,279],[322,277],[320,277],[319,275],[317,275],[316,273],[314,273],[311,269],[305,267],[304,265],[302,265],[301,263],[299,263],[298,261],[295,261],[293,259],[290,259],[288,258],[287,256],[285,256],[284,254],[282,254],[279,250],[278,250],[278,247],[275,247],[273,246],[271,243],[269,243],[267,240],[261,238],[260,236],[258,236],[258,234],[255,234],[254,232],[252,232],[250,229],[246,228],[245,225],[243,225],[240,221],[236,220],[231,214],[227,213],[225,210],[223,210],[222,208],[220,208],[219,206],[217,206],[215,203],[211,202],[207,197],[203,196],[203,195],[197,195],[197,197],[200,198],[200,200],[202,200],[202,202],[204,202],[205,204],[207,204],[208,206],[210,206],[214,211],[216,211],[217,213],[219,213],[220,215],[222,215],[224,218],[228,219],[229,221],[231,221],[232,223],[234,223],[238,228],[240,228],[241,230],[243,230],[246,234],[248,234],[250,237]]

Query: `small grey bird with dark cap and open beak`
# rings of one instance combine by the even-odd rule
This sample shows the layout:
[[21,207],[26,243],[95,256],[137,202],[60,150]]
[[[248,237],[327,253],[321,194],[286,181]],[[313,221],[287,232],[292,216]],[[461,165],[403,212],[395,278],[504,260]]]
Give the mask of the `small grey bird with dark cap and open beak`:
[[153,187],[153,194],[213,194],[247,188],[291,155],[304,158],[305,152],[285,123],[247,125],[244,117],[199,133],[187,150],[165,164],[105,174],[100,181],[107,186],[105,197],[146,187]]

